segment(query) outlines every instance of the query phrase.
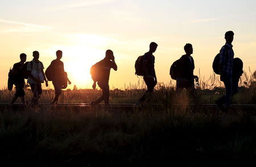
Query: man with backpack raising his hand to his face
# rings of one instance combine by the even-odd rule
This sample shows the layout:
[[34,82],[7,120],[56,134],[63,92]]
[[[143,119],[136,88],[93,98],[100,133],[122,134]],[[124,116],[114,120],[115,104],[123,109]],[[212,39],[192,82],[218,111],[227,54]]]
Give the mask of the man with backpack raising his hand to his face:
[[91,105],[98,105],[101,101],[104,101],[105,106],[109,106],[109,76],[110,69],[117,70],[117,64],[115,64],[115,57],[112,50],[106,51],[106,56],[103,60],[97,62],[90,69],[90,74],[93,79],[93,89],[96,88],[96,82],[102,90],[102,96],[94,102],[91,102]]

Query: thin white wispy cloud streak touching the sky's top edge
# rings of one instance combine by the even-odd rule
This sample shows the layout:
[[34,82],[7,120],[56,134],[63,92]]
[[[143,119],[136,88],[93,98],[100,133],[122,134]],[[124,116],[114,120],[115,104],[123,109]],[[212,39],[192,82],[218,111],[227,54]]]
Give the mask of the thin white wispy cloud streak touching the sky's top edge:
[[76,8],[76,7],[86,7],[86,6],[92,6],[92,5],[102,5],[105,3],[111,3],[115,0],[90,0],[86,2],[77,2],[77,3],[72,3],[72,4],[67,4],[63,6],[56,7],[56,9],[71,9],[71,8]]

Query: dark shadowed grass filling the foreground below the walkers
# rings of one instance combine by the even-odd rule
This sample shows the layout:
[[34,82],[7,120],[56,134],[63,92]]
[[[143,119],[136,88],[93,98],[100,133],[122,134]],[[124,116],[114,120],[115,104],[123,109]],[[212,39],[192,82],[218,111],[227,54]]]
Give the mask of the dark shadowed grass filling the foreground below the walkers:
[[133,112],[1,112],[1,164],[255,164],[256,123],[241,111],[148,107]]

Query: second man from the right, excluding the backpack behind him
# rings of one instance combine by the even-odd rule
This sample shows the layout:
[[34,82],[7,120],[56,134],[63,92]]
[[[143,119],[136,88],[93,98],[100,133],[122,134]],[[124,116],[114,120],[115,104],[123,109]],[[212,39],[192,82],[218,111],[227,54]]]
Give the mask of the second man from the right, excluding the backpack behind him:
[[179,91],[181,89],[195,90],[194,79],[198,80],[197,76],[194,76],[193,72],[195,69],[195,63],[193,57],[193,47],[192,44],[185,44],[184,46],[185,55],[180,58],[180,76],[176,80],[176,89]]

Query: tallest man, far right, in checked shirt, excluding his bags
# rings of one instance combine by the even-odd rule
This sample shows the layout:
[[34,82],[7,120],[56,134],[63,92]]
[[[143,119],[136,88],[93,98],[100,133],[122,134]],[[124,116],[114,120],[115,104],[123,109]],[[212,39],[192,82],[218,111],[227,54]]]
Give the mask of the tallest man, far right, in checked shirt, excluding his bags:
[[[226,44],[220,50],[220,79],[224,82],[226,93],[225,96],[218,99],[216,102],[218,105],[230,105],[230,100],[232,97],[233,90],[233,60],[234,60],[234,51],[233,51],[233,42],[234,32],[228,31],[225,33]],[[224,102],[222,102],[224,99]]]

